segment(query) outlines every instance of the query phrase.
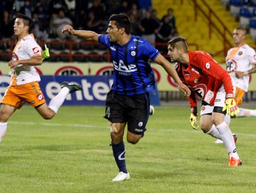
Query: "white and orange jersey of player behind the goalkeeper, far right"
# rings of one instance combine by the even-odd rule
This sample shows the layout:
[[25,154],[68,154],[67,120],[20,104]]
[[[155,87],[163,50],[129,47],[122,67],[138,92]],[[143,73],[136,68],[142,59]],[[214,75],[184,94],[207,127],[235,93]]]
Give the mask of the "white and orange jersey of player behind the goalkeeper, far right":
[[232,83],[235,87],[241,88],[245,92],[248,91],[250,76],[246,75],[237,79],[235,71],[244,72],[253,68],[256,64],[255,50],[249,45],[244,44],[241,47],[235,47],[228,50],[226,57],[226,70],[232,77]]

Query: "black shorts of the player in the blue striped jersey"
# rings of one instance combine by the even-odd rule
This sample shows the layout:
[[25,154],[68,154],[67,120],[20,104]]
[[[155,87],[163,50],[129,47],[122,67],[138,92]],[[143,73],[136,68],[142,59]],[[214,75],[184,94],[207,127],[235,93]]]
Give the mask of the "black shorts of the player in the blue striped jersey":
[[149,119],[149,93],[127,96],[109,92],[106,100],[105,119],[111,123],[127,123],[129,132],[142,134]]

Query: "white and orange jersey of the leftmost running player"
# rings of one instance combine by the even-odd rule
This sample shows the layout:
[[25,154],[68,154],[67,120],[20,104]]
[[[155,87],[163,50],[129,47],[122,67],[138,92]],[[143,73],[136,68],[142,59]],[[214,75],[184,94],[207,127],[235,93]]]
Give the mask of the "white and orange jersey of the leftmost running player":
[[[17,42],[12,52],[12,60],[30,59],[33,56],[42,55],[42,48],[35,41],[33,34],[29,34]],[[41,81],[35,66],[20,63],[12,70],[11,85],[23,85],[33,81]]]

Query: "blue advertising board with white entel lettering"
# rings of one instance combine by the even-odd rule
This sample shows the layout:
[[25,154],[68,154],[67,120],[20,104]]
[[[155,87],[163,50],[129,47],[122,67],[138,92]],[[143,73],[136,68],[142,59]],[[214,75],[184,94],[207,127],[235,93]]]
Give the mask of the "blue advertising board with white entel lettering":
[[[112,76],[41,76],[39,82],[47,103],[56,96],[63,81],[78,83],[83,90],[66,96],[64,105],[104,105],[111,85]],[[0,101],[10,83],[10,76],[0,76]],[[149,93],[152,105],[160,105],[157,88]]]

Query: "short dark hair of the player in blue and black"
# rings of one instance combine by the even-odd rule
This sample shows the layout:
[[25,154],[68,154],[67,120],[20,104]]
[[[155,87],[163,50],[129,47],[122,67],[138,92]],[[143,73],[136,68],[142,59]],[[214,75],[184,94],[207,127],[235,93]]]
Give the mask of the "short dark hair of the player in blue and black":
[[125,28],[125,33],[131,34],[131,20],[127,14],[112,14],[111,17],[109,17],[109,21],[116,21],[116,27],[118,29]]

